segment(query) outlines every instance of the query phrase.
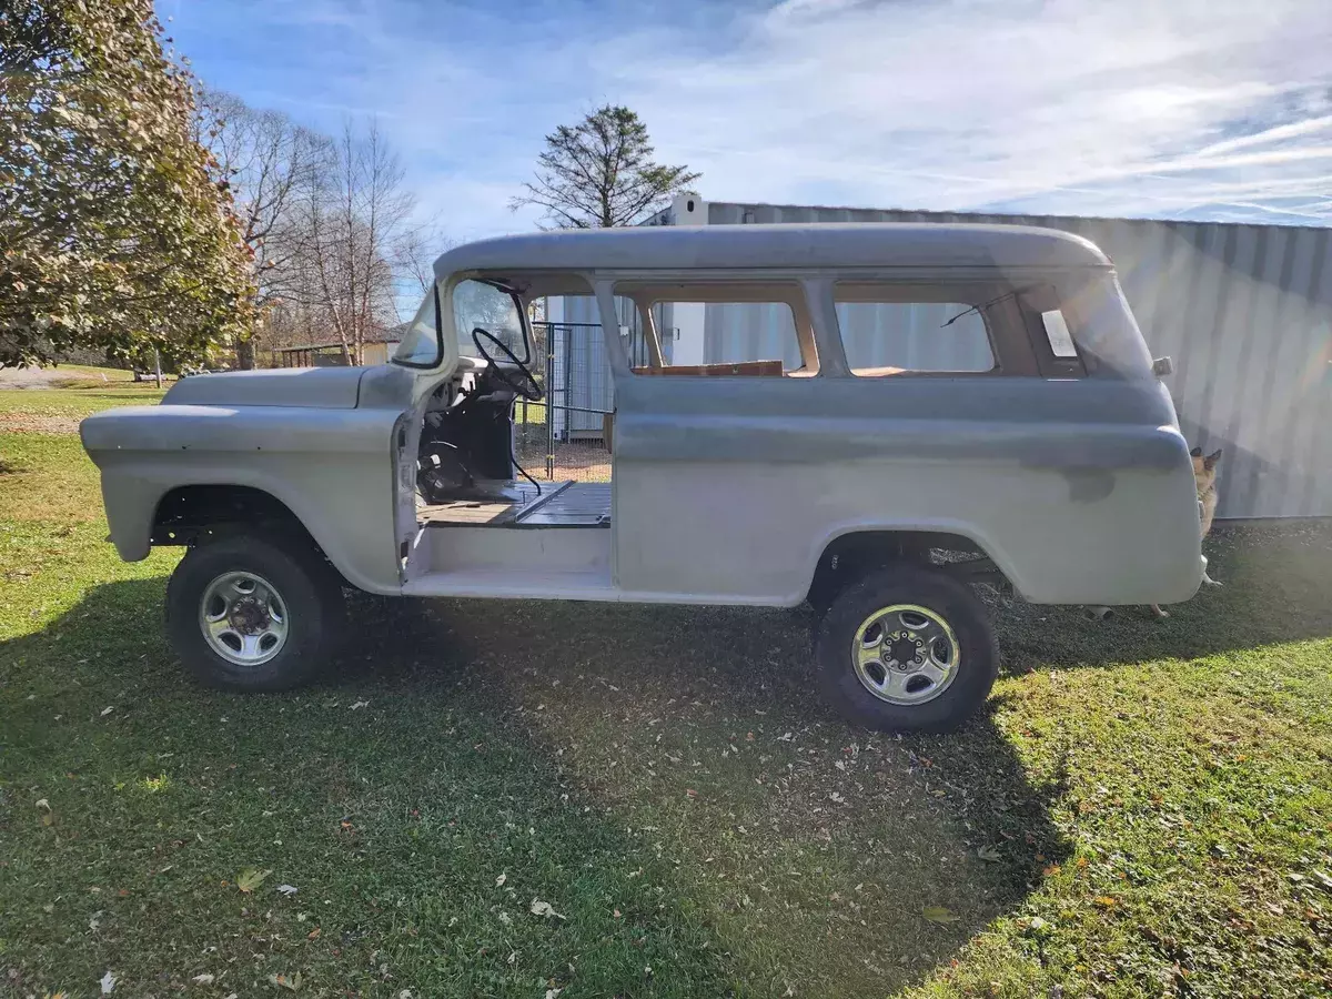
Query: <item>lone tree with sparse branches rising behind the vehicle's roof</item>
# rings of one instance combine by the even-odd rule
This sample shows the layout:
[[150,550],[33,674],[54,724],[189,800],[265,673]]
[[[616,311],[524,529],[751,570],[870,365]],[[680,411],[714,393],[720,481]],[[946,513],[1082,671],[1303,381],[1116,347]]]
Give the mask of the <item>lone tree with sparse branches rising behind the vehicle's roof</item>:
[[633,225],[687,192],[702,174],[653,163],[647,127],[629,108],[606,105],[546,136],[537,176],[510,208],[538,205],[557,228]]

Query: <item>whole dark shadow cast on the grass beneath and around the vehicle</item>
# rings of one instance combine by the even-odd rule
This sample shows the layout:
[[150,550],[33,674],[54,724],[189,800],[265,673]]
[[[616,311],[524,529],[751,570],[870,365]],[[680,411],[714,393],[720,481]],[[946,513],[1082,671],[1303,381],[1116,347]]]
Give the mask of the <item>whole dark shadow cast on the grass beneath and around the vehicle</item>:
[[[1225,531],[1207,549],[1227,586],[1167,622],[1012,609],[1006,669],[1332,634],[1325,531]],[[250,940],[272,934],[273,970],[369,995],[518,994],[542,976],[606,994],[879,995],[946,966],[1071,850],[1052,819],[1058,754],[1032,771],[994,702],[948,737],[840,723],[814,695],[803,610],[353,597],[320,685],[238,697],[182,675],[161,597],[161,579],[96,586],[0,643],[5,782],[59,814],[52,831],[0,801],[15,856],[44,871],[16,883],[12,911],[77,899],[0,927],[35,991],[61,982],[32,968],[93,980],[120,962],[133,982],[168,950],[218,946],[250,967]],[[133,790],[161,775],[166,790]],[[242,867],[329,899],[324,943],[294,903],[258,924],[201,887]],[[152,919],[127,910],[132,930],[91,938],[107,902],[89,879]],[[533,896],[567,919],[534,923]]]

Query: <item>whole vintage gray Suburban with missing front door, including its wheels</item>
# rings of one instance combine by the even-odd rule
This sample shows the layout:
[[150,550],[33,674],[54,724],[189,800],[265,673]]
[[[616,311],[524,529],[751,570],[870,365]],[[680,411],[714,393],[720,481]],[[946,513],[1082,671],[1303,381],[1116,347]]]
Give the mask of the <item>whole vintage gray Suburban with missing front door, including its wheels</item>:
[[[1188,446],[1110,261],[1084,240],[975,225],[559,232],[458,246],[436,277],[393,364],[201,376],[160,406],[84,421],[121,557],[188,545],[177,575],[192,558],[218,559],[169,595],[181,601],[170,619],[186,619],[173,625],[182,658],[212,657],[196,662],[205,678],[285,686],[322,654],[292,606],[309,594],[281,593],[261,570],[289,570],[246,562],[256,550],[280,550],[312,579],[326,570],[334,585],[316,579],[310,597],[325,631],[341,585],[809,598],[835,633],[823,670],[846,661],[859,685],[842,691],[856,703],[826,687],[830,697],[898,727],[943,727],[975,706],[975,690],[960,690],[968,655],[992,678],[959,631],[976,610],[971,582],[1090,605],[1177,602],[1199,586]],[[515,397],[542,389],[525,365],[529,306],[555,296],[590,296],[599,310],[613,474],[538,494],[514,468],[511,414]],[[657,322],[674,302],[777,304],[798,360],[670,365]],[[968,313],[986,364],[926,370],[852,356],[843,325],[908,304]],[[619,336],[626,305],[647,364],[631,366]],[[934,605],[896,593],[903,579]],[[847,607],[867,617],[838,623],[839,599],[884,586],[887,617],[871,613],[883,610],[875,595]],[[952,617],[938,610],[954,597]],[[992,646],[976,629],[971,645]],[[912,681],[920,670],[908,666],[930,677]],[[975,683],[983,698],[988,681]]]

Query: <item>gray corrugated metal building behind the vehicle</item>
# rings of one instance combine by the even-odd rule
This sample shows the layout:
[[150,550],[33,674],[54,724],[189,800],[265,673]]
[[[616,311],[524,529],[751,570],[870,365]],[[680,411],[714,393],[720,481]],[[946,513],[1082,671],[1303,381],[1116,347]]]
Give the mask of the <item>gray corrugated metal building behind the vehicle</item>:
[[[1084,236],[1115,261],[1124,293],[1156,357],[1169,356],[1166,380],[1180,426],[1192,444],[1221,448],[1217,515],[1223,518],[1332,515],[1332,230],[1066,216],[903,212],[697,201],[706,224],[766,222],[1002,222]],[[653,220],[673,224],[681,206]],[[703,222],[698,217],[695,224]],[[566,300],[594,320],[589,300]],[[761,306],[709,305],[707,361],[734,356],[783,357],[789,337]],[[884,312],[844,330],[859,364],[879,358],[888,337],[927,356],[939,306]],[[924,314],[930,312],[930,314]],[[583,316],[586,313],[586,316]],[[935,314],[938,313],[938,314]],[[571,318],[571,316],[570,316]],[[669,320],[662,322],[669,326]],[[902,332],[907,329],[903,342]],[[862,342],[863,341],[863,342]],[[959,341],[952,338],[954,352]],[[899,349],[903,349],[899,348]],[[976,362],[988,366],[976,345]],[[785,358],[791,361],[793,358]],[[944,358],[939,358],[940,361]],[[968,357],[947,358],[966,369]],[[573,402],[573,400],[570,400]]]

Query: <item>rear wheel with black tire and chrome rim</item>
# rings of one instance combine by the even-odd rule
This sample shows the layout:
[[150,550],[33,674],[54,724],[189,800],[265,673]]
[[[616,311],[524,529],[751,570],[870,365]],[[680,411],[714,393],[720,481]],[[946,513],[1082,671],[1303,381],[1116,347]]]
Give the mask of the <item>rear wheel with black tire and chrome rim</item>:
[[825,698],[850,722],[952,731],[990,694],[999,650],[984,605],[938,570],[900,565],[843,590],[815,641]]

